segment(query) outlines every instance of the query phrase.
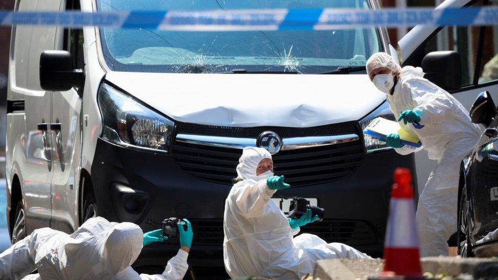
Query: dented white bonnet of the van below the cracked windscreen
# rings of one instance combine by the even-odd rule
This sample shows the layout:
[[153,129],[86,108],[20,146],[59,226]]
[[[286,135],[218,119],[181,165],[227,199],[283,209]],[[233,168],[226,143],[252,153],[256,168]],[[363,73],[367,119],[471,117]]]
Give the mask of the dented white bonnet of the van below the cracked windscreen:
[[108,72],[106,80],[173,120],[220,126],[359,120],[385,100],[366,74]]

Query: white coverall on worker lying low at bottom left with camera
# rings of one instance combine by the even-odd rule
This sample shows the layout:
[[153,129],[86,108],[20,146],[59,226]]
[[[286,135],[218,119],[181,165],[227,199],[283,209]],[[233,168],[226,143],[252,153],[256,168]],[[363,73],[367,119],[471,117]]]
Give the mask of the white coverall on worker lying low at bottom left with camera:
[[[134,223],[88,219],[71,235],[41,228],[0,254],[0,279],[183,279],[188,253],[179,250],[162,274],[138,274],[142,250]],[[29,274],[35,269],[38,274]]]

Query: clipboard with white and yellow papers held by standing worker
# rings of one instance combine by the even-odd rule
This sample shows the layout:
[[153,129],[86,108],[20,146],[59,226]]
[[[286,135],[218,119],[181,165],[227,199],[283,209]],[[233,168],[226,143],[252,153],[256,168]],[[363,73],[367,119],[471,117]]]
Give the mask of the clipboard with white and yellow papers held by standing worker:
[[372,120],[363,130],[366,135],[386,140],[387,135],[397,133],[400,135],[401,143],[411,147],[420,147],[422,143],[416,135],[404,130],[396,121],[378,117]]

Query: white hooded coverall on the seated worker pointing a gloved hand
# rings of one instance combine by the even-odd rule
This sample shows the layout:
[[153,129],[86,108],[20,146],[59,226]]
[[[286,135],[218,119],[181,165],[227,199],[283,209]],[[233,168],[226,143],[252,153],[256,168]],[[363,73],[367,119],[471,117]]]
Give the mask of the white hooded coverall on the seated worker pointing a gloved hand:
[[232,187],[225,202],[223,259],[230,277],[298,279],[312,273],[318,260],[369,258],[350,246],[327,244],[315,235],[293,238],[299,228],[291,229],[287,217],[270,199],[276,191],[268,189],[266,179],[256,176],[256,167],[265,158],[271,159],[265,149],[244,149],[237,166],[242,181]]

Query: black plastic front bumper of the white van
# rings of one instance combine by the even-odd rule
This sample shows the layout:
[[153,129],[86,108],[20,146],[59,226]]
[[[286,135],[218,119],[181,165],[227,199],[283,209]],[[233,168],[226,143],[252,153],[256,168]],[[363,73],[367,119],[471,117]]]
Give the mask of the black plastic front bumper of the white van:
[[[344,179],[278,194],[317,198],[325,208],[323,221],[303,227],[301,233],[380,257],[393,170],[407,167],[415,178],[414,166],[413,156],[380,151],[365,155],[356,171]],[[194,232],[189,263],[223,266],[223,211],[231,186],[197,179],[169,154],[124,148],[102,139],[97,141],[91,179],[99,216],[137,223],[143,232],[160,228],[168,217],[188,218]],[[142,250],[134,266],[164,266],[178,249],[175,240],[153,243]]]

